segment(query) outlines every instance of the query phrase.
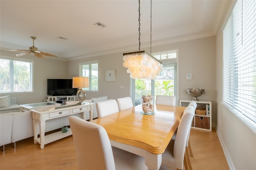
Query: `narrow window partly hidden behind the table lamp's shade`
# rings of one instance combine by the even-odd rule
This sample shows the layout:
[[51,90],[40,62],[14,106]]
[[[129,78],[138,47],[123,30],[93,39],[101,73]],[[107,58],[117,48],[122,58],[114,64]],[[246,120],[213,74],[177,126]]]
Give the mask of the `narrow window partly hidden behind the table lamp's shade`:
[[89,87],[85,91],[98,91],[98,61],[80,63],[79,76],[89,77]]

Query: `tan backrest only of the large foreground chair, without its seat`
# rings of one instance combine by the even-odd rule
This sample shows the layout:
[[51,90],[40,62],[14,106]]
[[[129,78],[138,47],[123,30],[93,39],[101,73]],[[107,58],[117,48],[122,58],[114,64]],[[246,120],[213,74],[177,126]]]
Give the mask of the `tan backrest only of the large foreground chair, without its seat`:
[[79,170],[115,170],[114,156],[106,130],[79,117],[68,118],[76,148]]

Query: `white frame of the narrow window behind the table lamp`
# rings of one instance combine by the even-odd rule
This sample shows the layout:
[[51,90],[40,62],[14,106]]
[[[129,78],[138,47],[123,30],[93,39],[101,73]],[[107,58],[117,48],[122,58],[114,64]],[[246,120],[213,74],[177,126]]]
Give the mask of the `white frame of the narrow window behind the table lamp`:
[[[92,90],[92,64],[98,64],[98,83],[97,83],[97,90]],[[82,66],[83,65],[89,65],[89,90],[86,88],[83,88],[84,91],[90,91],[90,92],[98,92],[99,91],[99,61],[89,61],[84,63],[79,63],[79,76],[82,76]]]

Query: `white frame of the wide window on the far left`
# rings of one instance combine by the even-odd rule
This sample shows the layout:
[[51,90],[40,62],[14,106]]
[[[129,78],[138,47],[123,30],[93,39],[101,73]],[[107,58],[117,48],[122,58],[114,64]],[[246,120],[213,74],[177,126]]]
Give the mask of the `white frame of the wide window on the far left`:
[[[4,57],[0,56],[0,59],[6,59],[10,61],[20,61],[20,62],[26,62],[30,63],[30,90],[23,90],[23,91],[0,91],[0,94],[5,94],[5,93],[31,93],[34,92],[34,61],[29,60],[29,59],[18,59],[14,57]],[[10,73],[13,74],[13,70],[10,70]],[[10,75],[10,77],[13,77]],[[12,82],[13,86],[13,82]],[[10,89],[13,89],[13,87],[10,87]]]

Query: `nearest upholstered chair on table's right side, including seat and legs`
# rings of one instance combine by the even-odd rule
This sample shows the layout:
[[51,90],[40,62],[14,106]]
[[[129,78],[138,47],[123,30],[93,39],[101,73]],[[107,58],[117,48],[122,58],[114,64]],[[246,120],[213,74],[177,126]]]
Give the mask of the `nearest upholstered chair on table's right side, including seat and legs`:
[[175,140],[172,139],[170,141],[162,154],[162,165],[176,170],[183,170],[184,166],[186,170],[189,169],[185,150],[194,114],[194,108],[192,106],[186,107],[180,120]]

